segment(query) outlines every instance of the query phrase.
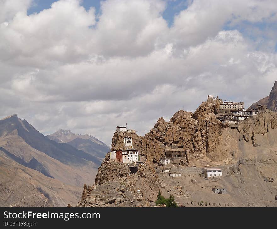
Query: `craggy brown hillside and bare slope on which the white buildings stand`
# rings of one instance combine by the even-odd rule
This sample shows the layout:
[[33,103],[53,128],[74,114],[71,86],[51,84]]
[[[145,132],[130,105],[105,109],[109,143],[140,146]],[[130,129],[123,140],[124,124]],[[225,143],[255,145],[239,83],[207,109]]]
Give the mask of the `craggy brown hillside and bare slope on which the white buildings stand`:
[[[126,164],[110,161],[107,154],[95,185],[84,187],[78,206],[155,205],[159,189],[166,197],[174,194],[185,206],[201,200],[213,206],[277,206],[277,114],[262,111],[240,121],[238,129],[222,124],[217,115],[215,104],[204,102],[194,114],[180,110],[169,122],[160,118],[145,136],[116,131],[112,148],[123,148],[124,136],[131,136],[144,164],[131,173]],[[170,144],[187,155],[167,166],[181,173],[181,179],[170,179],[158,163]],[[201,168],[210,165],[222,168],[223,176],[200,177]],[[227,193],[215,194],[215,187],[225,187]]]

